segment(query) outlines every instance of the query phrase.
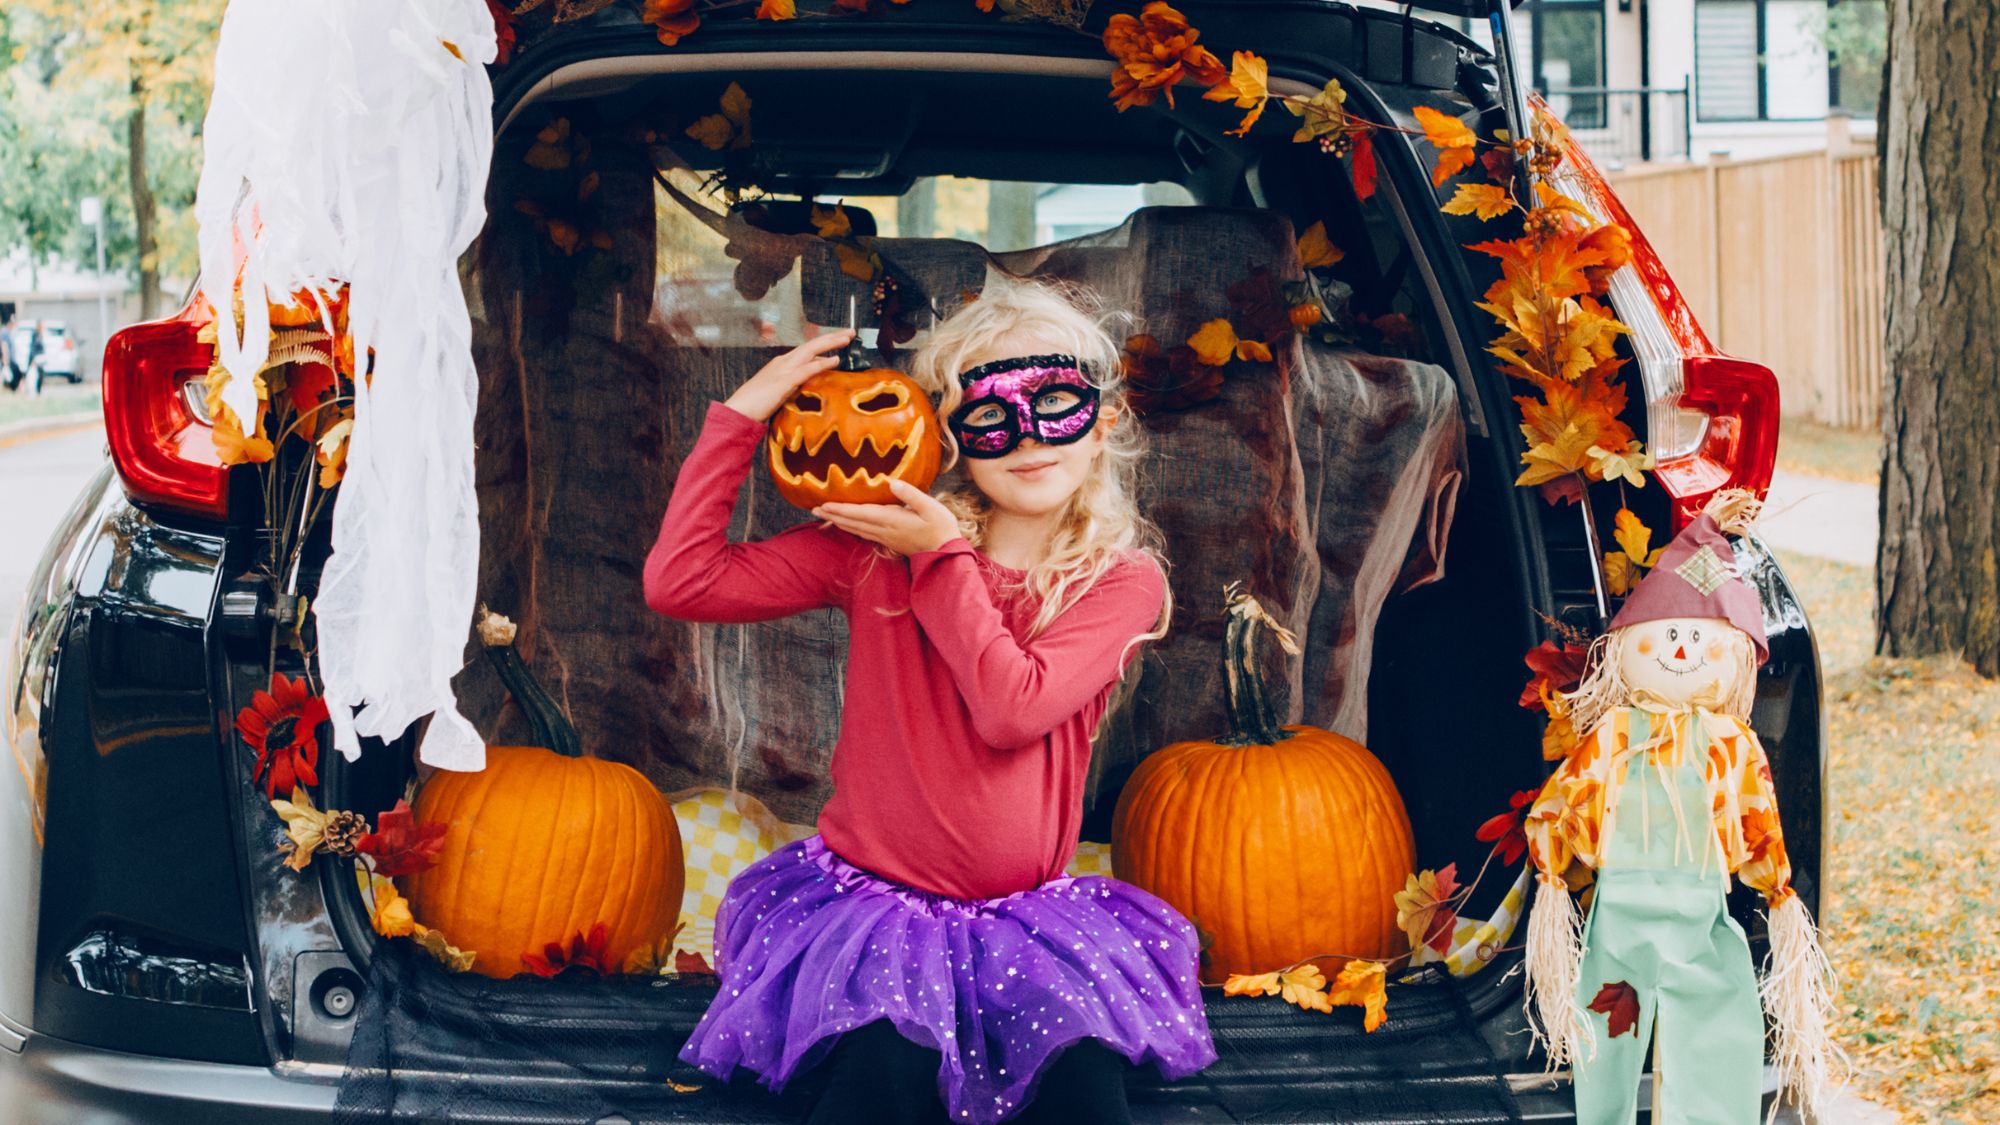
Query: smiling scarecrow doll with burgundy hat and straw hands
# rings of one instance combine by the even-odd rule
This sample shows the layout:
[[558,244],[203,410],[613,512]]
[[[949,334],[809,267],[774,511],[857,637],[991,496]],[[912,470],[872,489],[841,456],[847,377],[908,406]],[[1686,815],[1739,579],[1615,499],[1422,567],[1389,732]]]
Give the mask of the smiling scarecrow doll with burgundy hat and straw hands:
[[[1830,973],[1748,723],[1770,653],[1726,536],[1756,510],[1746,490],[1718,492],[1626,599],[1564,697],[1582,737],[1528,811],[1528,1007],[1550,1067],[1570,1065],[1580,1125],[1636,1121],[1652,1045],[1654,1121],[1754,1123],[1760,993],[1780,1095],[1810,1111],[1826,1083]],[[1728,913],[1732,875],[1768,905],[1762,987]]]

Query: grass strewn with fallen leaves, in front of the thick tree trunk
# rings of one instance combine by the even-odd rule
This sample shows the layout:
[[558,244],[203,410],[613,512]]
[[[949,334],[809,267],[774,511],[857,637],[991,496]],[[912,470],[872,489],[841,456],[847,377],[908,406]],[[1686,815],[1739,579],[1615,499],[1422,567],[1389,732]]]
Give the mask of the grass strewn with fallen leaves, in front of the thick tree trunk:
[[2000,1121],[2000,683],[1874,651],[1874,575],[1780,552],[1826,671],[1826,895],[1854,1093]]

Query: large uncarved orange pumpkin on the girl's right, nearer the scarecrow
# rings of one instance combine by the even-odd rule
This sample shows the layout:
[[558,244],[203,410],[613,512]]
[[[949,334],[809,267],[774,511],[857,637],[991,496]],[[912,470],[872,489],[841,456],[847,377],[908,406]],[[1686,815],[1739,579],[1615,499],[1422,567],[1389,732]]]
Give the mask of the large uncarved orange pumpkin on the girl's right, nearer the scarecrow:
[[1276,629],[1232,589],[1230,733],[1148,755],[1112,819],[1112,871],[1208,935],[1206,983],[1320,955],[1334,955],[1332,975],[1338,959],[1400,953],[1394,895],[1416,867],[1382,763],[1332,731],[1278,727],[1256,671],[1260,623]]

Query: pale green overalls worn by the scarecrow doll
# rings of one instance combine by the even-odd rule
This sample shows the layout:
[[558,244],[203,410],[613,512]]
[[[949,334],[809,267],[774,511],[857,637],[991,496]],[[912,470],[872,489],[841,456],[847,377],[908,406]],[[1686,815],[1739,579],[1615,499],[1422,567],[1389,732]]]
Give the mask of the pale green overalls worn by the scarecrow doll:
[[[1652,715],[1634,709],[1630,745],[1644,745],[1650,727]],[[1662,771],[1652,751],[1640,751],[1622,767],[1576,985],[1576,1003],[1590,1019],[1590,1043],[1574,1065],[1578,1125],[1638,1119],[1638,1081],[1654,1037],[1656,1125],[1758,1121],[1764,1017],[1750,945],[1724,905],[1728,875],[1702,781],[1704,747],[1692,717],[1680,765]],[[1678,817],[1664,783],[1678,789]],[[1638,1019],[1610,1035],[1622,989],[1608,985],[1616,983],[1636,993]],[[1592,1001],[1612,1011],[1592,1011]]]

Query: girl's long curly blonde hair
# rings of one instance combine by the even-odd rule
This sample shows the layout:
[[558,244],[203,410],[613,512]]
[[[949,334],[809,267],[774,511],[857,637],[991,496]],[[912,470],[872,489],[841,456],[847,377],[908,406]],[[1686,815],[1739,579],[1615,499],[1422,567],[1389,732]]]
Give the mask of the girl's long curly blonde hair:
[[[1150,556],[1166,573],[1160,530],[1138,510],[1138,464],[1146,454],[1146,434],[1126,402],[1120,348],[1108,328],[1116,318],[1084,286],[992,274],[978,298],[932,330],[910,366],[910,376],[938,394],[940,418],[948,418],[962,400],[958,372],[1002,356],[1066,352],[1078,358],[1086,378],[1098,388],[1104,452],[1062,510],[1048,552],[1028,569],[1024,585],[1040,601],[1028,627],[1030,637],[1048,629],[1128,552]],[[950,468],[958,462],[958,442],[948,428],[944,444]],[[984,548],[992,502],[970,480],[938,498],[958,516],[966,542]],[[1174,595],[1168,589],[1154,631],[1134,643],[1164,637],[1172,611]]]

